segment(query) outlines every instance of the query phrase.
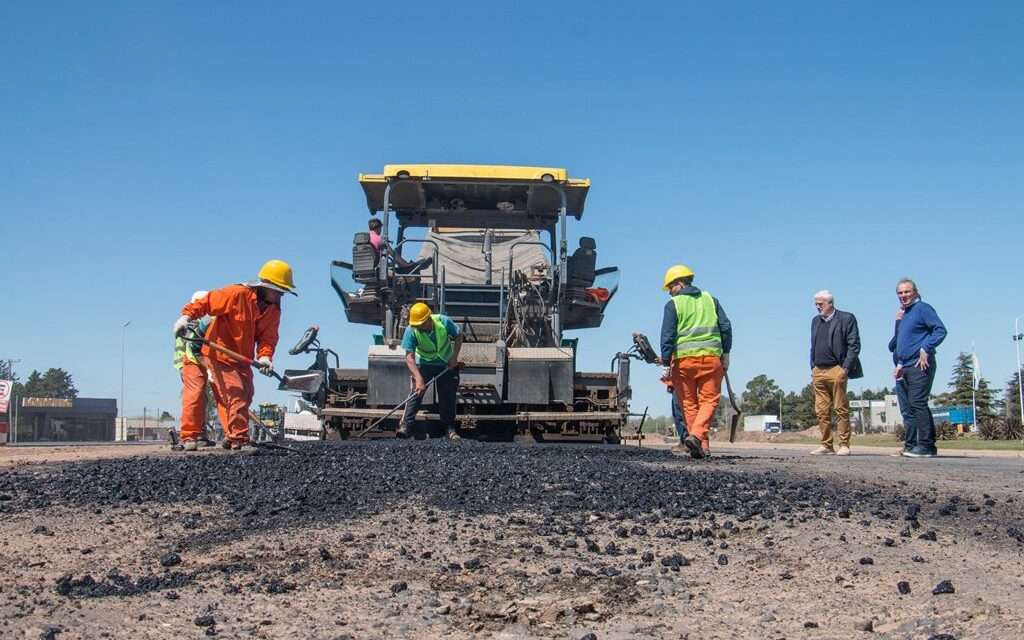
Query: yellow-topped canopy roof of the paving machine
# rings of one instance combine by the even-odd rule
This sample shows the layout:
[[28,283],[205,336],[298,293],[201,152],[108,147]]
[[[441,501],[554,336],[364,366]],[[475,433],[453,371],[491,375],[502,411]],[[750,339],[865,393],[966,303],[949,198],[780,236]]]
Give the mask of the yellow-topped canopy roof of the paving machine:
[[551,216],[564,193],[565,213],[580,219],[590,190],[590,180],[570,178],[565,169],[505,165],[385,165],[384,173],[360,173],[359,184],[371,213],[384,209],[390,184],[388,208],[421,215]]

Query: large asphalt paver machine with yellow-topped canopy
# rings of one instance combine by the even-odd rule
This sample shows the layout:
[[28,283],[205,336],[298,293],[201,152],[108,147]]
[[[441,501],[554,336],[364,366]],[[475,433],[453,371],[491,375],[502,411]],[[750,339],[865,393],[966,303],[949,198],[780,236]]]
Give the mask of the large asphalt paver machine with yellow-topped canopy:
[[[410,307],[424,302],[464,336],[464,435],[617,442],[629,367],[578,371],[580,339],[566,334],[600,327],[618,288],[617,267],[597,267],[593,238],[569,250],[568,219],[583,217],[590,180],[565,169],[490,165],[387,165],[358,180],[371,215],[380,215],[380,242],[356,232],[351,261],[334,261],[331,282],[350,323],[380,329],[367,368],[330,367],[333,352],[310,328],[291,352],[313,353],[313,366],[286,372],[302,380],[322,372],[316,389],[294,390],[316,407],[325,433],[348,437],[384,418],[369,435],[394,435],[400,413],[388,412],[410,393],[399,342]],[[417,258],[407,260],[413,251]]]

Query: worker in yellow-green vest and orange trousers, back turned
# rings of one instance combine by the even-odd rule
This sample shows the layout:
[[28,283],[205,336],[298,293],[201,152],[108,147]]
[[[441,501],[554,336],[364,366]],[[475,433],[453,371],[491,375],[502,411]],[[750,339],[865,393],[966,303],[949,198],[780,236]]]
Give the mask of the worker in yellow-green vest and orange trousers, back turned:
[[672,386],[689,430],[683,444],[692,458],[705,458],[711,455],[708,430],[729,368],[732,325],[718,300],[693,286],[690,267],[669,267],[663,289],[672,299],[665,305],[659,359],[671,362]]

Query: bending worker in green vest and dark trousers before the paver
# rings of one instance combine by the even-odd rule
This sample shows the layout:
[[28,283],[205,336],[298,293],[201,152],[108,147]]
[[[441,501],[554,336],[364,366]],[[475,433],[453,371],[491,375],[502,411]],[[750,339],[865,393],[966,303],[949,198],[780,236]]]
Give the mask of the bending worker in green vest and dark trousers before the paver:
[[406,366],[413,377],[415,394],[406,404],[406,414],[398,425],[398,437],[409,437],[416,412],[423,403],[427,381],[440,376],[434,385],[441,425],[447,431],[449,439],[458,440],[455,414],[461,367],[459,351],[462,349],[459,327],[449,316],[431,313],[430,307],[417,302],[409,310],[409,327],[401,338],[401,346],[406,349]]

